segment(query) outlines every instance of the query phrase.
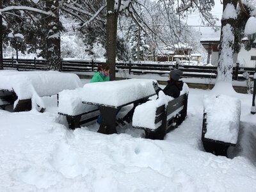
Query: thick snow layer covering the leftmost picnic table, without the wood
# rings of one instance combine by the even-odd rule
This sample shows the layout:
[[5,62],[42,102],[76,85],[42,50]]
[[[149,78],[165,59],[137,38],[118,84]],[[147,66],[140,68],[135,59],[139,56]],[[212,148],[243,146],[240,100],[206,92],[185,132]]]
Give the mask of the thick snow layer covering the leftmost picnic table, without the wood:
[[72,90],[82,86],[76,74],[56,71],[2,70],[0,89],[14,91],[18,99],[31,99],[36,92],[40,97],[56,95],[62,90]]

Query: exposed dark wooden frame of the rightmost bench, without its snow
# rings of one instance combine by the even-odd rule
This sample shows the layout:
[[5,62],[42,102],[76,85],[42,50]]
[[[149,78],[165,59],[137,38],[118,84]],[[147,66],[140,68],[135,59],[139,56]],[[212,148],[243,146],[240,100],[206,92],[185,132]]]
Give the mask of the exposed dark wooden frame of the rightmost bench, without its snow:
[[206,152],[211,152],[216,156],[226,156],[227,157],[227,150],[230,146],[236,147],[234,143],[226,143],[223,141],[212,140],[209,138],[205,138],[205,133],[207,132],[207,113],[204,113],[203,118],[203,127],[202,127],[202,142],[204,145],[204,149]]

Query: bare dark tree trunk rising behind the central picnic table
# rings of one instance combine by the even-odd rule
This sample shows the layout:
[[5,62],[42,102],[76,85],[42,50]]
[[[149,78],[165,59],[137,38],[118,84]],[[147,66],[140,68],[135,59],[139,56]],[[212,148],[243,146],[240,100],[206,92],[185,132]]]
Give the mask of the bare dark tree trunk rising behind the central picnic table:
[[118,8],[115,9],[115,0],[107,0],[107,65],[110,67],[110,79],[116,78],[116,31],[117,31],[117,19],[118,11],[120,8],[121,0],[118,0]]

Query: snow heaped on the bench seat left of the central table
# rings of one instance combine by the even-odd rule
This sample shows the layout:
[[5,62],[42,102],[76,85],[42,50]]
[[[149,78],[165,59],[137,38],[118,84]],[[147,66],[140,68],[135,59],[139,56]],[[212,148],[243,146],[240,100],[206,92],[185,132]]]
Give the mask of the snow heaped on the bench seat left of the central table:
[[58,98],[58,113],[66,115],[80,115],[97,109],[97,106],[83,104],[82,97],[86,94],[83,88],[77,88],[76,90],[63,90],[60,92]]

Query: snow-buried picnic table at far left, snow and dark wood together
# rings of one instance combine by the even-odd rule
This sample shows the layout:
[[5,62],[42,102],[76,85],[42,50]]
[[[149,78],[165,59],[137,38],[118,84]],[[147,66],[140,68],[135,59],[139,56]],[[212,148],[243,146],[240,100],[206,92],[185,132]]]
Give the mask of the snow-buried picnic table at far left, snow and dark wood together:
[[[13,104],[13,111],[30,110],[31,99],[35,99],[37,103],[38,99],[40,102],[40,97],[56,95],[62,90],[72,90],[81,86],[81,80],[76,74],[1,70],[0,107]],[[40,104],[43,105],[42,102]]]

